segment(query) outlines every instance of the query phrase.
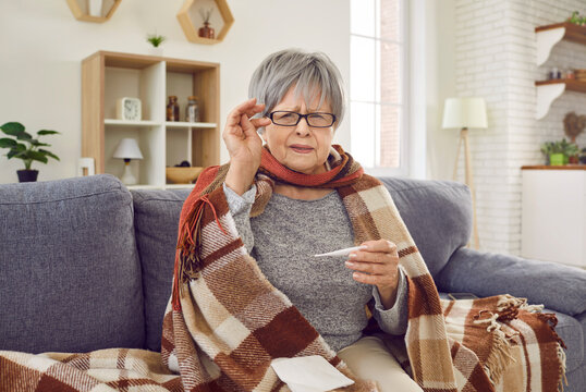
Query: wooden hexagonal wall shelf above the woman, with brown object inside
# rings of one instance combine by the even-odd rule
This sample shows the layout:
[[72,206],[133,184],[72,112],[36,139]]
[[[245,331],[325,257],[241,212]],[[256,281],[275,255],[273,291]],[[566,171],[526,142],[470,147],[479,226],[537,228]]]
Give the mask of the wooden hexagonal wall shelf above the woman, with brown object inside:
[[[202,16],[198,14],[199,10],[209,9],[210,5],[213,9],[212,16],[215,16],[210,19],[211,27],[216,29],[215,39],[199,37],[197,34],[199,27],[196,27],[196,25],[203,26],[204,23]],[[185,37],[190,41],[208,45],[221,42],[234,23],[234,17],[228,7],[227,0],[185,0],[183,7],[178,12],[178,20]],[[200,22],[197,23],[197,21]]]

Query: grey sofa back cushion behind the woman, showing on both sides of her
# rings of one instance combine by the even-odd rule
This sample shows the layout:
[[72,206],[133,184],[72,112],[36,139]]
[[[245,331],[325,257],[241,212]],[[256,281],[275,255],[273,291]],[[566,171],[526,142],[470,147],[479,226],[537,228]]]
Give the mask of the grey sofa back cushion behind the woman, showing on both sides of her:
[[[472,226],[468,188],[445,181],[380,179],[389,189],[432,275],[466,244]],[[171,295],[179,217],[190,191],[131,191],[145,289],[146,347],[160,350]]]

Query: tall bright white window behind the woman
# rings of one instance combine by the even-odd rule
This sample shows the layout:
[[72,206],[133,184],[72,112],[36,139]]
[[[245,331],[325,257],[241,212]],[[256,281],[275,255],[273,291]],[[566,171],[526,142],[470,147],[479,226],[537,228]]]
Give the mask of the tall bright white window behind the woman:
[[351,151],[367,169],[406,172],[406,0],[351,0]]

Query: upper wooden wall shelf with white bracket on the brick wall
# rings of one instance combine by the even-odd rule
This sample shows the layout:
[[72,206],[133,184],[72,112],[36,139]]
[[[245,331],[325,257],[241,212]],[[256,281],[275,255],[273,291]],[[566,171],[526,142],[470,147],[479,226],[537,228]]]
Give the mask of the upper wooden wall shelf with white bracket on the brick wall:
[[586,45],[586,26],[570,22],[535,27],[537,41],[537,66],[547,61],[551,49],[562,39]]

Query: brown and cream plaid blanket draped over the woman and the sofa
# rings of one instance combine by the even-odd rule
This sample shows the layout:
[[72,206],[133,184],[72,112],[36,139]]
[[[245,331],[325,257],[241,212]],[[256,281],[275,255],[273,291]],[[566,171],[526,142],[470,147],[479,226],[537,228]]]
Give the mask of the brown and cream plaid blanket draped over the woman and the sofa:
[[[271,360],[320,355],[356,381],[344,391],[377,391],[374,382],[352,373],[263,275],[218,186],[222,175],[225,168],[204,172],[182,211],[180,228],[193,230],[187,237],[197,245],[197,257],[178,249],[160,354],[0,352],[0,390],[289,391]],[[259,175],[257,188],[253,210],[259,213],[272,180]],[[404,339],[382,338],[424,391],[558,390],[564,357],[552,315],[508,295],[440,301],[384,186],[362,175],[337,189],[356,244],[387,238],[398,245],[408,281],[408,327]]]

